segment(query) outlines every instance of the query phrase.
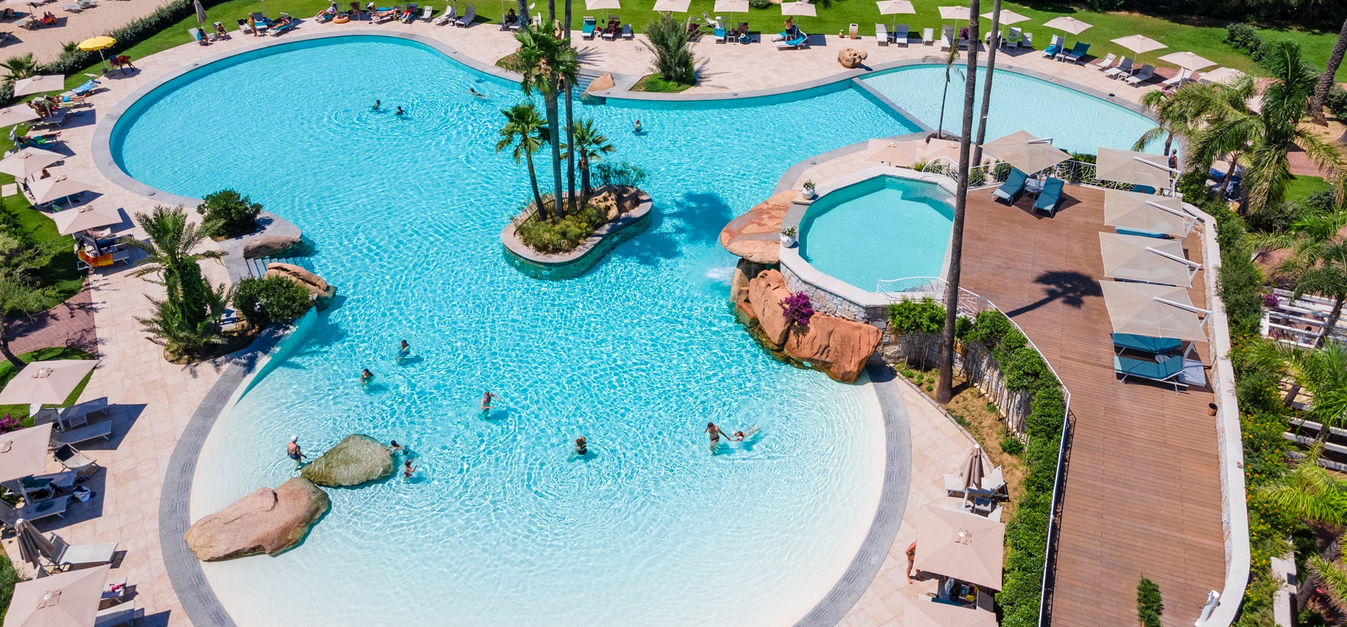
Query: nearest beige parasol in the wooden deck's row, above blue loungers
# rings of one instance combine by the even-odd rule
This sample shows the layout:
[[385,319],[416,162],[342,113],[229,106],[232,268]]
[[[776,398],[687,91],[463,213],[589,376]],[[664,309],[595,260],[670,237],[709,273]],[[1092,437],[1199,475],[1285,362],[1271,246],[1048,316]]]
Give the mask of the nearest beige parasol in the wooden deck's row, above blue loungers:
[[1206,309],[1192,305],[1188,288],[1145,283],[1099,281],[1113,331],[1148,338],[1179,338],[1204,342]]

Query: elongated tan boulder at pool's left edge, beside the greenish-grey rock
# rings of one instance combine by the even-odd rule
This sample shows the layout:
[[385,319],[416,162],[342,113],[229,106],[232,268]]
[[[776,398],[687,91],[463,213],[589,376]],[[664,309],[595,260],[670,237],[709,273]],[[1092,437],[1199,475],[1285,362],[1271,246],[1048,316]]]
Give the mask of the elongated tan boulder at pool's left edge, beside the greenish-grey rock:
[[308,479],[259,488],[191,525],[183,538],[201,561],[221,561],[298,545],[327,511],[327,494]]

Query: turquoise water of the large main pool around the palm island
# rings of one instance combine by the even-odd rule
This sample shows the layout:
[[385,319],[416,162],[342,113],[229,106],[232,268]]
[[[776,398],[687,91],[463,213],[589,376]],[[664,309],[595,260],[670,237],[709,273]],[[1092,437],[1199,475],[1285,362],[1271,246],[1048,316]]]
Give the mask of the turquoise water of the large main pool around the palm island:
[[[649,171],[659,215],[591,273],[548,283],[506,265],[497,239],[529,196],[493,151],[500,109],[520,100],[424,46],[339,38],[197,70],[116,128],[132,176],[251,194],[304,230],[339,287],[217,422],[193,515],[290,478],[292,433],[310,455],[353,432],[419,455],[409,482],[329,490],[299,548],[203,565],[238,624],[791,624],[855,554],[882,480],[877,401],[754,346],[717,235],[797,160],[912,128],[845,85],[578,106],[612,159]],[[636,117],[648,133],[630,133]],[[489,417],[484,389],[501,394]],[[707,421],[762,433],[713,456]],[[578,435],[586,459],[568,456]]]

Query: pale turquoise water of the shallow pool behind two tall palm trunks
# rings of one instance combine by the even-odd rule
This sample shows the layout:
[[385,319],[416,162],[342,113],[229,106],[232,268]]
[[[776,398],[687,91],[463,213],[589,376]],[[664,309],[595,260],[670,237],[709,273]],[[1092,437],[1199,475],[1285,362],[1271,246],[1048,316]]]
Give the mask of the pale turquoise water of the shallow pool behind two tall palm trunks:
[[[978,110],[986,73],[986,67],[978,69]],[[927,126],[940,124],[940,100],[946,90],[943,65],[898,67],[863,81]],[[954,135],[963,131],[963,78],[952,74],[944,104],[944,129]],[[1119,83],[1117,89],[1133,87]],[[973,124],[977,129],[977,114]],[[1125,106],[1024,74],[997,70],[991,83],[989,141],[1024,129],[1039,137],[1052,137],[1053,145],[1068,152],[1096,153],[1099,147],[1130,151],[1137,137],[1154,125]],[[1160,152],[1162,143],[1150,148]]]

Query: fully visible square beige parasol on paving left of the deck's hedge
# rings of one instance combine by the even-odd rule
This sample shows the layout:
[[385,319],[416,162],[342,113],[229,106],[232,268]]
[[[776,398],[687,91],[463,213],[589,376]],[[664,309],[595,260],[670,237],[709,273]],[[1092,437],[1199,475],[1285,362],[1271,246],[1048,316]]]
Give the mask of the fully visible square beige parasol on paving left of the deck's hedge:
[[919,570],[1001,589],[1005,525],[928,505],[917,513],[916,529]]

